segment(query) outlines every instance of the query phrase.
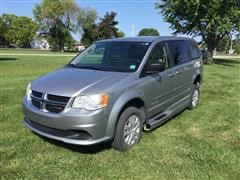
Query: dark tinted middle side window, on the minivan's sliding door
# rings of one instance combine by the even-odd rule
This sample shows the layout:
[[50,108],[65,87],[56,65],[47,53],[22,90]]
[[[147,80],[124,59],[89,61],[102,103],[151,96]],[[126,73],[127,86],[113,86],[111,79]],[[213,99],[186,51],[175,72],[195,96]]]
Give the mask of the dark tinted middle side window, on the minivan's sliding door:
[[186,41],[170,41],[168,45],[175,65],[190,60],[188,43]]

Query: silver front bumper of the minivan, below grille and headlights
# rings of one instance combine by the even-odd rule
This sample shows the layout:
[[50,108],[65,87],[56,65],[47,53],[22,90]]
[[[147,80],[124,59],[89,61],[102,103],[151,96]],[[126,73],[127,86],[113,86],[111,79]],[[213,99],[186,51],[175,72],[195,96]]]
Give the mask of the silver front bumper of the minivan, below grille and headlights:
[[42,112],[24,98],[24,124],[33,132],[69,144],[92,145],[110,140],[107,136],[108,113],[67,108],[59,114]]

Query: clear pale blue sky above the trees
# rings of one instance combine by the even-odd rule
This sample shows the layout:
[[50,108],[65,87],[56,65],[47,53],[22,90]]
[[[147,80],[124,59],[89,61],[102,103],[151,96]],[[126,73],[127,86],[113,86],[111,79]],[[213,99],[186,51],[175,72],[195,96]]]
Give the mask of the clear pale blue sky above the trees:
[[[21,16],[33,17],[34,5],[41,0],[0,0],[0,10],[3,13],[13,13]],[[90,7],[98,12],[99,17],[107,11],[115,11],[118,28],[126,36],[132,36],[132,24],[135,26],[135,36],[142,28],[155,28],[160,35],[168,36],[173,32],[169,23],[165,23],[154,8],[157,0],[76,0],[81,7]],[[80,38],[76,38],[79,40]]]

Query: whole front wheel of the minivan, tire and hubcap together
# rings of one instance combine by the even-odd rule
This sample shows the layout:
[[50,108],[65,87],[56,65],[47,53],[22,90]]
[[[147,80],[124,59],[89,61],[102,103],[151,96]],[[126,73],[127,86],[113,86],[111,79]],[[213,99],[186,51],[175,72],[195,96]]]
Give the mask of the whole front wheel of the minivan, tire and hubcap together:
[[112,147],[125,151],[137,144],[141,139],[144,118],[143,109],[125,109],[118,119]]

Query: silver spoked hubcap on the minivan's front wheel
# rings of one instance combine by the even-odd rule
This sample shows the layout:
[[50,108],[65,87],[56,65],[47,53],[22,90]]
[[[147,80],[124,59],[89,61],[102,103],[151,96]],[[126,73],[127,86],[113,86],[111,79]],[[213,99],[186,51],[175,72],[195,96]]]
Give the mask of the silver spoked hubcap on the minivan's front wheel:
[[127,145],[133,145],[138,142],[140,136],[140,118],[132,115],[128,118],[123,131],[123,138]]

